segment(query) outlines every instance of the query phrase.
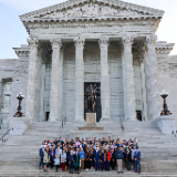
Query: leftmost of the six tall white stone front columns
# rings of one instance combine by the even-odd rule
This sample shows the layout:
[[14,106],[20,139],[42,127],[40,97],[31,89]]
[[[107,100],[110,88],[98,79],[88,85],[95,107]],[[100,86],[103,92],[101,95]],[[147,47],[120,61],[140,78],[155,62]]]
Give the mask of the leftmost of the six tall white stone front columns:
[[29,121],[33,121],[39,40],[33,38],[28,39],[28,42],[30,46],[30,58],[28,69],[25,116]]

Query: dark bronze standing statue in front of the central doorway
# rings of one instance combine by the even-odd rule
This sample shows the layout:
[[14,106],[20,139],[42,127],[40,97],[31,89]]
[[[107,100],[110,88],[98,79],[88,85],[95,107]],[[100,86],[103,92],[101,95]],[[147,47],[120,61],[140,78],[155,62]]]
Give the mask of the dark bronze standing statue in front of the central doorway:
[[92,84],[86,88],[87,110],[94,112],[96,94],[92,87]]

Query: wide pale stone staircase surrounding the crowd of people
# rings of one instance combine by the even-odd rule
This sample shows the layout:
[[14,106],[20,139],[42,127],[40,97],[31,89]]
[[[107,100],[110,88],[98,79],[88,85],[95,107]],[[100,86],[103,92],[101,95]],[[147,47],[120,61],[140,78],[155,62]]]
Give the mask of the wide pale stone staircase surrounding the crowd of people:
[[[0,175],[2,176],[70,176],[67,173],[55,174],[54,169],[49,173],[39,170],[39,148],[45,138],[62,139],[71,137],[96,136],[112,138],[137,137],[142,152],[142,176],[175,175],[177,174],[177,137],[163,135],[156,127],[155,122],[125,122],[125,123],[98,123],[104,131],[79,131],[85,123],[32,123],[22,136],[6,136],[6,143],[0,142]],[[2,134],[1,134],[2,135]],[[82,171],[80,176],[96,175],[95,171]],[[97,173],[107,176],[107,173]],[[125,169],[124,176],[134,176],[134,171]],[[72,176],[72,175],[71,175]],[[108,176],[117,176],[110,171]],[[136,176],[136,175],[135,175]]]

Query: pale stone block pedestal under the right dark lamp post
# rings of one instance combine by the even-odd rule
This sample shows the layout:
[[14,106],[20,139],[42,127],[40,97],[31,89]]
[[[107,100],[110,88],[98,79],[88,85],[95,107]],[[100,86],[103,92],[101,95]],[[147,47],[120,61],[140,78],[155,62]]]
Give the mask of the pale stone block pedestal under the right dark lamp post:
[[162,115],[157,118],[157,126],[163,134],[176,133],[176,117],[174,115]]

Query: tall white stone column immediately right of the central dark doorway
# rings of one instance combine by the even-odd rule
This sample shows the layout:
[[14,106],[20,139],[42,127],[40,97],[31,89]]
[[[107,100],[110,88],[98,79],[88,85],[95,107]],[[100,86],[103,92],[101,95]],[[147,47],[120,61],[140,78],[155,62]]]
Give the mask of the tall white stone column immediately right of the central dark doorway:
[[101,48],[101,102],[102,119],[111,121],[110,117],[110,85],[108,85],[108,39],[98,40]]

